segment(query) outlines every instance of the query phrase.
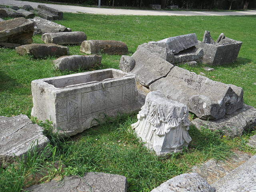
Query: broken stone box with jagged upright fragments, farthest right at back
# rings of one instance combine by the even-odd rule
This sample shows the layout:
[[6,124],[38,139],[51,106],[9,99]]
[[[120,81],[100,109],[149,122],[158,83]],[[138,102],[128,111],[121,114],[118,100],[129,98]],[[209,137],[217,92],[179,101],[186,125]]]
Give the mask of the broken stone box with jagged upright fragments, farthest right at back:
[[213,66],[234,62],[242,46],[241,41],[226,38],[224,34],[220,34],[215,44],[198,42],[196,47],[204,50],[203,62]]

